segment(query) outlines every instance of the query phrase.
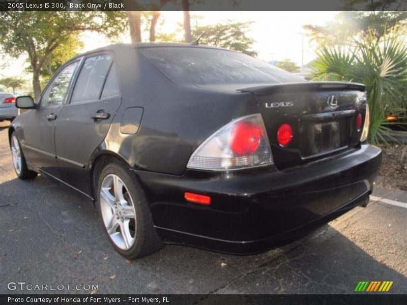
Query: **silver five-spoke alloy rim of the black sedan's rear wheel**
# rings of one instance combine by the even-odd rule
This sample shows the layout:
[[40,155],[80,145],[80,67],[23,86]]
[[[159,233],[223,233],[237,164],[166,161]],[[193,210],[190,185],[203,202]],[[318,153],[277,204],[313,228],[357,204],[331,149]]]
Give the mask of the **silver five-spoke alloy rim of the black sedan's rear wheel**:
[[129,250],[136,240],[136,211],[123,180],[114,174],[104,177],[99,199],[103,223],[111,240],[120,249]]

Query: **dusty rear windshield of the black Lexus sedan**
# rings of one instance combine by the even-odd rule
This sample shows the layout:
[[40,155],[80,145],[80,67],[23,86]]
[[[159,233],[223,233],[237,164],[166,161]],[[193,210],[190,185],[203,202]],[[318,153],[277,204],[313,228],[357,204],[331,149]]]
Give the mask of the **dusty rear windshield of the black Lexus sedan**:
[[173,82],[188,85],[286,83],[303,80],[249,55],[193,47],[140,48]]

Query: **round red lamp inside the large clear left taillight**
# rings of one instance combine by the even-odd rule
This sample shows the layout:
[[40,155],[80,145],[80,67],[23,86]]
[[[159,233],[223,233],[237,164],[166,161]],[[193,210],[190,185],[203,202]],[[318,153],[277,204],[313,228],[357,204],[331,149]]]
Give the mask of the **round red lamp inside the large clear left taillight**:
[[230,134],[230,148],[238,156],[253,154],[260,143],[260,129],[248,121],[237,123]]

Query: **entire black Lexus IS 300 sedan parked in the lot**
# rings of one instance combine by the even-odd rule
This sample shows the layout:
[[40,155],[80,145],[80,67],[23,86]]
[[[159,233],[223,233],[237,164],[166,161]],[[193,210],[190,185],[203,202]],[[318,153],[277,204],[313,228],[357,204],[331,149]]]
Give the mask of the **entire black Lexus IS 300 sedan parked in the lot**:
[[84,53],[16,104],[30,109],[9,130],[17,175],[93,200],[127,258],[281,245],[366,204],[382,162],[362,84],[302,82],[208,46]]

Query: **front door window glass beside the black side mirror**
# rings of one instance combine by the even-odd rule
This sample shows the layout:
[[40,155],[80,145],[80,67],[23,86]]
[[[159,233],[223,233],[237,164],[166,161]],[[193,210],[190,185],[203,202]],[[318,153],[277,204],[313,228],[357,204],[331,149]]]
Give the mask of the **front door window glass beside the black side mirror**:
[[72,75],[74,74],[78,63],[79,62],[74,62],[66,66],[58,73],[58,75],[56,75],[44,92],[41,99],[42,107],[64,104],[69,83],[71,82]]

